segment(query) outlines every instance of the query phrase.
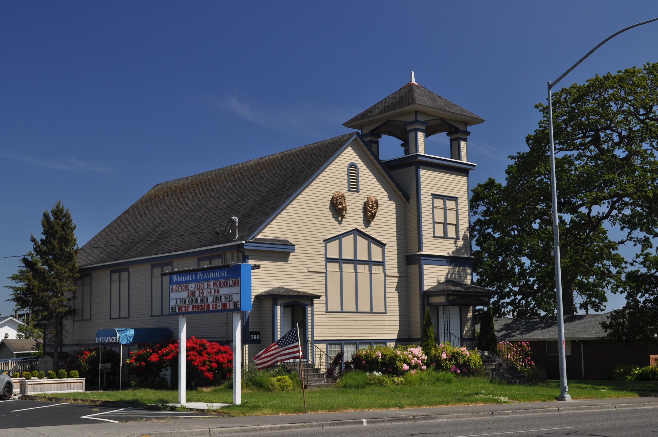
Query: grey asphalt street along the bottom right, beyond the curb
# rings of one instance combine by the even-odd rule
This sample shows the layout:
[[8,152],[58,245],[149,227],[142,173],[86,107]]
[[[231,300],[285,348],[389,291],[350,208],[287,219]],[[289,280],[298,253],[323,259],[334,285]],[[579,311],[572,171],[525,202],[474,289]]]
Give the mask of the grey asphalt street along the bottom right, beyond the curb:
[[644,437],[658,436],[658,409],[588,411],[581,413],[521,415],[415,424],[392,424],[329,428],[322,430],[286,430],[254,435],[286,437]]

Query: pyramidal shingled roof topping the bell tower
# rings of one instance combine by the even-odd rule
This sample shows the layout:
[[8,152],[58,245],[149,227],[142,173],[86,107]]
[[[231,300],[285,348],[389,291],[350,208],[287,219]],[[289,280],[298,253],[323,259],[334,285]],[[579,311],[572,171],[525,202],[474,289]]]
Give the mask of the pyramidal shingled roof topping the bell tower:
[[384,99],[378,101],[359,115],[350,118],[343,123],[343,126],[348,126],[349,124],[353,124],[361,120],[367,120],[368,118],[390,113],[392,111],[397,111],[398,109],[403,109],[412,105],[421,105],[430,109],[436,109],[437,111],[441,112],[466,116],[468,118],[473,118],[474,121],[478,123],[484,121],[483,118],[480,118],[474,113],[467,111],[459,105],[455,105],[455,103],[452,103],[448,99],[433,93],[424,86],[415,83],[409,83],[388,97],[384,97]]

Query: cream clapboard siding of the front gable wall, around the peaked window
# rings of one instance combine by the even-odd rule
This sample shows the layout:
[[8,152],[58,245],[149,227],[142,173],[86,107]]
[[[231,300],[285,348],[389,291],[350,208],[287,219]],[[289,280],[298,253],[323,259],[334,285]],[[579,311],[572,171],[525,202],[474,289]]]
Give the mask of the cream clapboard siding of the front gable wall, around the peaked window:
[[[359,166],[359,192],[347,191],[347,166]],[[340,220],[332,204],[336,191],[345,193],[347,217]],[[374,222],[364,215],[364,202],[368,195],[379,201]],[[265,251],[249,251],[249,262],[261,265],[253,271],[253,293],[258,294],[276,286],[320,295],[315,300],[316,340],[388,340],[399,338],[401,320],[399,299],[406,294],[407,265],[405,251],[407,232],[404,226],[407,202],[370,157],[363,145],[354,141],[336,158],[303,192],[301,192],[259,234],[263,237],[287,238],[295,244],[295,252],[282,255]],[[324,240],[358,228],[386,244],[386,313],[328,313],[325,311],[325,252]],[[320,271],[309,272],[310,270]],[[258,299],[260,300],[260,299]],[[259,303],[258,300],[255,303]],[[281,303],[281,302],[280,302]],[[261,303],[270,305],[270,303]],[[255,328],[268,329],[264,319]],[[279,328],[280,329],[280,328]],[[266,345],[261,345],[265,347]],[[249,355],[257,349],[249,347]]]

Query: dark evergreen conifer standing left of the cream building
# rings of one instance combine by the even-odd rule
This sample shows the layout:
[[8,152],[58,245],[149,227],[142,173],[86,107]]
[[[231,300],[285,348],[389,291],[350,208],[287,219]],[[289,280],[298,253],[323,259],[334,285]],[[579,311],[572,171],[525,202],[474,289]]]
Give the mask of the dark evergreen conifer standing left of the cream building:
[[18,285],[7,288],[12,291],[9,300],[31,309],[34,325],[43,329],[44,344],[50,336],[57,369],[64,320],[76,312],[71,306],[80,277],[76,225],[70,211],[58,201],[50,213],[43,211],[41,228],[42,238],[30,236],[33,250],[22,257],[18,272],[9,276]]

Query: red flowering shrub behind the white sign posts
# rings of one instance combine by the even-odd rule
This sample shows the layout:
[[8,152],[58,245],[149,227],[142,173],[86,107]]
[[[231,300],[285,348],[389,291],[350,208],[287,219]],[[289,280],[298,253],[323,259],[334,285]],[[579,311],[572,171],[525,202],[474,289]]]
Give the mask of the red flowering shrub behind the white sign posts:
[[[230,378],[233,370],[233,351],[230,347],[191,337],[186,342],[186,348],[188,387],[219,384]],[[157,378],[170,368],[172,386],[175,386],[178,378],[178,341],[155,346],[140,345],[137,351],[130,353],[127,363],[139,380]]]

